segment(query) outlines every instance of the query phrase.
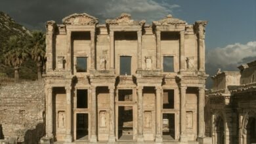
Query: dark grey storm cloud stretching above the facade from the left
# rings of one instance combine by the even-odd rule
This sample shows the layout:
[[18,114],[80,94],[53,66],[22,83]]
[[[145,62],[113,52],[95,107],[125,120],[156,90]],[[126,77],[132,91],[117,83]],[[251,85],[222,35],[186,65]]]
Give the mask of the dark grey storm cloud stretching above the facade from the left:
[[107,18],[116,18],[122,12],[128,12],[133,19],[146,19],[150,24],[153,20],[172,14],[172,10],[177,8],[179,5],[169,5],[165,1],[153,0],[0,1],[0,10],[30,29],[43,29],[48,20],[55,20],[60,24],[65,16],[82,12],[99,18],[100,23],[104,23]]

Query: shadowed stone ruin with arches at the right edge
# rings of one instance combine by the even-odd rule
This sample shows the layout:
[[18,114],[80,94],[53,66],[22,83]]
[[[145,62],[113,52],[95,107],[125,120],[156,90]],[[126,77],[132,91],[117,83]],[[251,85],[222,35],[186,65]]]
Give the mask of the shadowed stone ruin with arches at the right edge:
[[256,60],[211,77],[214,85],[206,93],[211,109],[213,144],[256,143]]

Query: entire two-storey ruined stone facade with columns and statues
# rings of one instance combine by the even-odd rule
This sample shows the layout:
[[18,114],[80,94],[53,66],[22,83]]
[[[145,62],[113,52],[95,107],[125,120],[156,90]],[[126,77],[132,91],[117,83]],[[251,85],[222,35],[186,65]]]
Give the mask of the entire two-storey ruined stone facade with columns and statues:
[[[47,22],[45,96],[53,141],[203,141],[205,25],[130,14]],[[196,142],[198,143],[198,142]]]

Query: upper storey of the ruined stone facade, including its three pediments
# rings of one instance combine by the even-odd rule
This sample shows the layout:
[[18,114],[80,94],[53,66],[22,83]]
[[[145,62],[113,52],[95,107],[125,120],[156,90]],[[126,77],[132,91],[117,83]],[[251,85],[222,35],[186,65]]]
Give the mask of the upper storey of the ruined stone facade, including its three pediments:
[[72,14],[47,22],[47,75],[205,75],[206,21],[168,15],[152,25],[130,14],[98,24]]

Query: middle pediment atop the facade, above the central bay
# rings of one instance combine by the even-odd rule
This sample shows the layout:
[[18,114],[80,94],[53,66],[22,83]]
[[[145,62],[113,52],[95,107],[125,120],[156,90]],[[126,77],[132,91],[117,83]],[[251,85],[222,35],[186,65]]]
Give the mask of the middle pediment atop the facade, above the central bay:
[[106,24],[108,25],[144,25],[146,20],[141,20],[140,22],[132,20],[131,14],[122,13],[121,16],[116,19],[108,19],[106,20]]

